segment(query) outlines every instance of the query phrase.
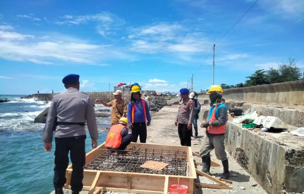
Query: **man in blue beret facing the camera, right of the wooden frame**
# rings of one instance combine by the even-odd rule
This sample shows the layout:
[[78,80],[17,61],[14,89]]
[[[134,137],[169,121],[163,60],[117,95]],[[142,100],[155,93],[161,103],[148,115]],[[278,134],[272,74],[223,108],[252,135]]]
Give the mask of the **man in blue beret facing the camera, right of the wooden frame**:
[[194,102],[189,98],[189,90],[186,88],[179,90],[182,103],[178,109],[175,119],[175,126],[178,123],[178,136],[180,145],[191,146],[192,122],[194,115]]

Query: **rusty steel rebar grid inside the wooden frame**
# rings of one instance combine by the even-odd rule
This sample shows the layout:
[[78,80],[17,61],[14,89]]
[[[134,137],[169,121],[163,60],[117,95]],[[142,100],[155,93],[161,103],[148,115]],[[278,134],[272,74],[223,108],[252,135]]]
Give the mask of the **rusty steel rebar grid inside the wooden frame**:
[[[185,151],[135,147],[125,151],[104,150],[105,152],[86,165],[85,169],[188,176],[187,153]],[[147,161],[164,162],[169,165],[161,171],[141,168],[140,166]]]

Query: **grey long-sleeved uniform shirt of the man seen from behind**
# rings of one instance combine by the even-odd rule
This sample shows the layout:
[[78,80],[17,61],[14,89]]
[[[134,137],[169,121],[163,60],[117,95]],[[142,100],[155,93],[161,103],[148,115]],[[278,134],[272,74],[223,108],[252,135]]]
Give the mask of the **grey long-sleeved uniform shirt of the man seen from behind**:
[[[44,142],[52,142],[56,117],[57,122],[87,122],[91,139],[98,139],[94,104],[88,95],[79,92],[77,89],[70,87],[66,92],[53,97],[42,137]],[[55,131],[55,137],[58,138],[80,135],[86,135],[85,127],[81,125],[58,125]]]

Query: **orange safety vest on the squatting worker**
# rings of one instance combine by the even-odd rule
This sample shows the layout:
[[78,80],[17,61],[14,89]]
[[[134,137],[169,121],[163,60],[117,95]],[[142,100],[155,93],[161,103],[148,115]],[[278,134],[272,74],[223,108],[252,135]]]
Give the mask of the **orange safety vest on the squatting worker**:
[[122,136],[120,133],[124,128],[125,126],[122,124],[112,125],[106,136],[105,146],[113,149],[118,148],[122,143]]

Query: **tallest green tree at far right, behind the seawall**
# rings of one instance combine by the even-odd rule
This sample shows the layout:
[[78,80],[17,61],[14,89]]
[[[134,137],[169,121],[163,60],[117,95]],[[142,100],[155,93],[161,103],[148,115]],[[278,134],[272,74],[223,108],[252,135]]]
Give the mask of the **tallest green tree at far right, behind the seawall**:
[[289,58],[287,62],[281,62],[278,71],[280,72],[280,82],[298,81],[301,79],[301,71],[296,66],[295,58]]

